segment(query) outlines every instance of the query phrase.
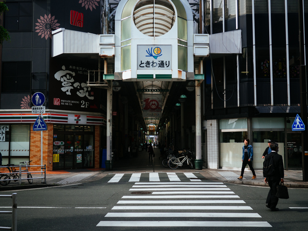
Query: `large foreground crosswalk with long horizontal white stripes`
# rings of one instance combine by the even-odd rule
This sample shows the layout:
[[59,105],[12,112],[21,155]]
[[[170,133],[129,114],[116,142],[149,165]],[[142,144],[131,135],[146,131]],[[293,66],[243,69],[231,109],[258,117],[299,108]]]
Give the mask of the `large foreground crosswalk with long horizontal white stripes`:
[[[167,177],[182,178],[178,174]],[[190,174],[186,177],[193,178]],[[118,177],[114,179],[118,180]],[[138,193],[140,190],[151,194],[130,193]],[[128,195],[124,195],[96,226],[272,227],[245,204],[221,182],[135,182],[128,190]]]

